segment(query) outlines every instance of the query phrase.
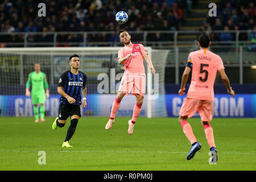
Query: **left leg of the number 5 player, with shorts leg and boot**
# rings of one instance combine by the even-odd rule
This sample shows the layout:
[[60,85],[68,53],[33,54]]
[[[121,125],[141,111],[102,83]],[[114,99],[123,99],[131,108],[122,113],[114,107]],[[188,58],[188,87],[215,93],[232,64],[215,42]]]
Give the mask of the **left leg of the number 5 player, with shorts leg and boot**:
[[183,133],[186,135],[189,142],[191,143],[191,150],[187,155],[187,160],[192,159],[196,152],[199,151],[201,148],[201,144],[197,142],[197,139],[193,134],[192,127],[187,121],[188,118],[191,118],[196,113],[198,105],[199,100],[186,98],[180,109],[179,123],[183,129]]

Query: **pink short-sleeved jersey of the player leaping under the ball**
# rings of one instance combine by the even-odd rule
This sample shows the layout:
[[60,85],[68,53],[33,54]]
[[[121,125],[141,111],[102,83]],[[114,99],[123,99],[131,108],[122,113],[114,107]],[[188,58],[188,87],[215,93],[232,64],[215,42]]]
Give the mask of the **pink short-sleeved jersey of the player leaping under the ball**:
[[[127,67],[125,73],[145,73],[144,65],[143,65],[143,57],[147,54],[145,51],[145,48],[142,44],[138,44],[139,47],[137,47],[138,51],[135,51],[133,53],[133,57],[131,57],[131,62],[129,64],[129,67]],[[139,48],[141,48],[141,52],[139,51]],[[118,57],[125,57],[129,53],[133,52],[133,44],[130,47],[123,47],[118,51]],[[126,60],[127,61],[127,60]]]

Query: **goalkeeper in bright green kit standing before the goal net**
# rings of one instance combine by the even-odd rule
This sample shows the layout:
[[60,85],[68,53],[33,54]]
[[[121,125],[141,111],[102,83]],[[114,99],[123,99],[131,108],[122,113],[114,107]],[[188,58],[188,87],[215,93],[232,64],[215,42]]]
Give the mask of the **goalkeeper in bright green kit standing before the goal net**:
[[[32,84],[31,94],[30,94],[30,85]],[[44,90],[46,89],[46,92]],[[28,80],[26,84],[26,96],[32,99],[32,105],[34,105],[34,115],[35,122],[39,122],[39,110],[38,106],[40,105],[40,121],[45,122],[44,119],[44,101],[46,97],[49,97],[49,87],[47,84],[46,74],[44,72],[40,72],[40,64],[35,64],[35,71],[31,72],[28,75]]]

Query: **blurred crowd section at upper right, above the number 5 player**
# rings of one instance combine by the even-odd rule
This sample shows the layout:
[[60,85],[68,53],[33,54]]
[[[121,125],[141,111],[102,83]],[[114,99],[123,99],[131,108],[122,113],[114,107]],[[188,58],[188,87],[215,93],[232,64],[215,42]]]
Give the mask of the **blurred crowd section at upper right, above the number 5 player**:
[[256,2],[224,0],[217,4],[217,17],[210,17],[203,22],[203,31],[224,30],[220,34],[210,34],[213,41],[222,41],[223,45],[230,45],[236,40],[234,30],[252,30],[254,32],[241,32],[238,36],[240,41],[248,44],[248,50],[255,50],[256,43]]

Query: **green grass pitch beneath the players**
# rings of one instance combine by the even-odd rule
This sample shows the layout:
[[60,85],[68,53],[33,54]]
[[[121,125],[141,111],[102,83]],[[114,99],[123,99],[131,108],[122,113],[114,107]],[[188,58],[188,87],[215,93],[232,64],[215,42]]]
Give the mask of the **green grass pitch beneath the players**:
[[[187,160],[191,144],[177,118],[138,118],[133,135],[129,118],[116,117],[106,131],[108,117],[82,117],[69,143],[61,148],[70,120],[51,129],[54,118],[35,123],[34,118],[0,117],[0,170],[255,170],[256,121],[251,118],[213,118],[217,165],[208,163],[209,146],[199,118],[189,119],[202,148]],[[38,164],[39,151],[46,164]]]

